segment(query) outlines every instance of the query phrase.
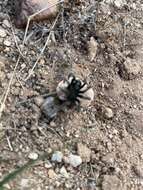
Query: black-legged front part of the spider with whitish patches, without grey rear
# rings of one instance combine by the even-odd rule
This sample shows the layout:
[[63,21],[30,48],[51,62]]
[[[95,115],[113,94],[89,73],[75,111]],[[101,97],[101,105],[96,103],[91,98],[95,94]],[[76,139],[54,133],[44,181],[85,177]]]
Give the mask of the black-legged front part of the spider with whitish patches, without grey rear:
[[60,100],[67,101],[69,104],[81,104],[91,102],[94,98],[94,92],[91,87],[83,80],[69,74],[68,79],[61,81],[57,86],[57,95]]

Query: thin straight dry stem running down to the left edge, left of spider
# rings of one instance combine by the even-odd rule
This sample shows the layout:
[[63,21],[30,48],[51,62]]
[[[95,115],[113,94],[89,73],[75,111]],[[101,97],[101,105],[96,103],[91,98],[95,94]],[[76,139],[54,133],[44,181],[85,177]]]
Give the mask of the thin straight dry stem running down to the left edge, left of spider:
[[18,66],[18,64],[19,64],[19,61],[20,61],[20,57],[21,57],[21,56],[19,55],[19,57],[18,57],[18,59],[17,59],[17,62],[16,62],[16,65],[15,65],[15,68],[14,68],[14,71],[13,71],[12,76],[11,76],[11,78],[10,78],[8,87],[7,87],[7,89],[6,89],[6,92],[4,92],[4,98],[3,98],[2,103],[1,103],[1,105],[0,105],[0,118],[1,118],[1,116],[2,116],[2,112],[3,112],[4,108],[5,108],[5,102],[6,102],[6,99],[7,99],[8,94],[9,94],[10,87],[11,87],[11,84],[12,84],[13,79],[14,79],[15,71],[16,71],[17,66]]

